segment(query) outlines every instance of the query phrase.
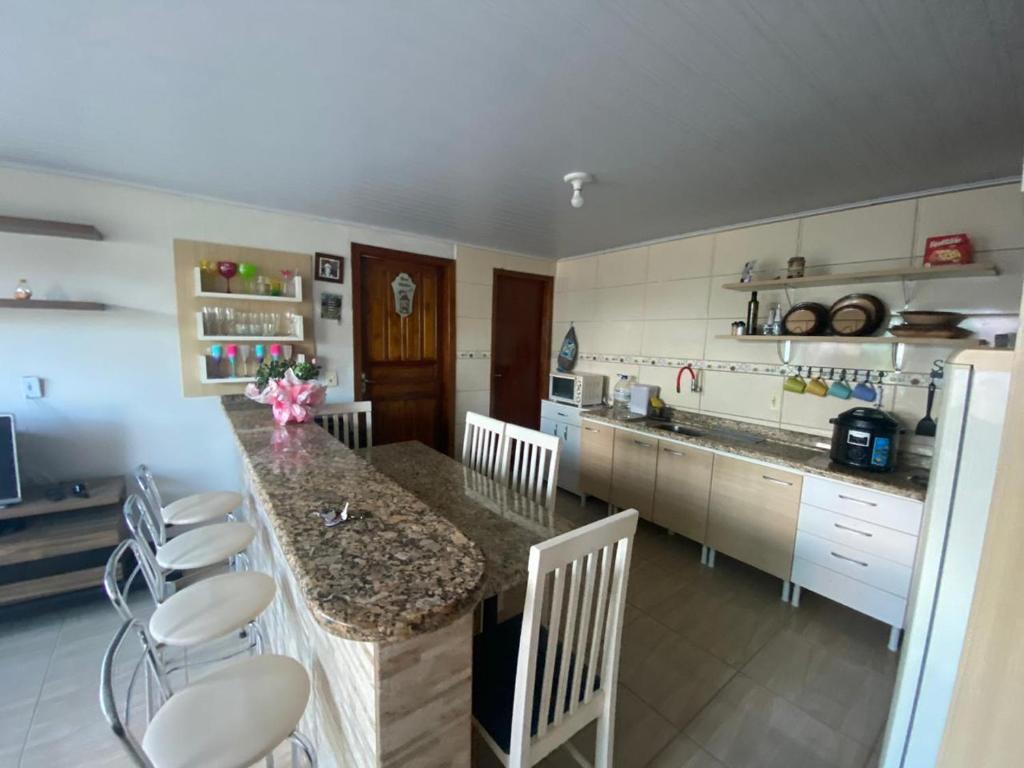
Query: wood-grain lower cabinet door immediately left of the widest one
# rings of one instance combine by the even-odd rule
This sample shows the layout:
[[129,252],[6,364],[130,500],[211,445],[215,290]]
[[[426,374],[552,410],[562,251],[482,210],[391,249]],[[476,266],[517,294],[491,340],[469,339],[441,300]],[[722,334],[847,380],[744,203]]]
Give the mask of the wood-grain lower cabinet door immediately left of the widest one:
[[655,523],[703,544],[714,462],[710,451],[658,441]]

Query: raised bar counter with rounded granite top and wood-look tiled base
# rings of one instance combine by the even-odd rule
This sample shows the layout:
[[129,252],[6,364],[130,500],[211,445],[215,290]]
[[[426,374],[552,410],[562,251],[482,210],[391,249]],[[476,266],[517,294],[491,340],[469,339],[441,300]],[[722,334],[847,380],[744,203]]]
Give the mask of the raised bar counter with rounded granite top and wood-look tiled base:
[[[278,584],[260,622],[270,649],[310,674],[300,729],[319,764],[469,766],[483,552],[316,425],[224,404],[257,529],[252,566]],[[317,512],[346,501],[366,516],[327,527]]]

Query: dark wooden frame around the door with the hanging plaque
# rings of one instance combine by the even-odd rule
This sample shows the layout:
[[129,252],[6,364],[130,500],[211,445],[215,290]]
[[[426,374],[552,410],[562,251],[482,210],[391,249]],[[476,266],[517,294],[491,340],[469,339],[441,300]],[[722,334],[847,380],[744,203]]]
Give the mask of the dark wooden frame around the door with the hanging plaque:
[[349,250],[349,261],[352,270],[352,398],[358,399],[360,380],[362,378],[362,266],[361,257],[380,256],[381,258],[408,261],[412,264],[428,264],[440,267],[441,281],[438,286],[441,295],[437,306],[444,309],[444,317],[438,324],[437,340],[443,346],[438,349],[438,362],[441,373],[441,419],[447,432],[447,453],[455,451],[455,345],[456,345],[456,307],[455,307],[455,259],[439,256],[426,256],[421,253],[396,251],[391,248],[370,246],[364,243],[352,243]]

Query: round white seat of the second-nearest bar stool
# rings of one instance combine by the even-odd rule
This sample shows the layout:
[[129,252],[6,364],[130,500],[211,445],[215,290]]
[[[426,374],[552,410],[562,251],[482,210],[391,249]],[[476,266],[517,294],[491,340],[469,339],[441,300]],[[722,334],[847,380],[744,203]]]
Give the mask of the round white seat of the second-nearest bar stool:
[[241,630],[273,600],[266,573],[210,577],[169,597],[150,617],[150,634],[164,645],[198,645]]

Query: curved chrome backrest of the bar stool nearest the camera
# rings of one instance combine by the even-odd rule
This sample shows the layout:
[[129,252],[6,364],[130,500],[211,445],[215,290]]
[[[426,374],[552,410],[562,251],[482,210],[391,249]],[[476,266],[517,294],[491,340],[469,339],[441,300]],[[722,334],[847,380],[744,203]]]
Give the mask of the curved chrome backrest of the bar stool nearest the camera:
[[[139,640],[140,653],[134,664],[125,665],[124,646],[133,636]],[[131,671],[130,675],[125,674],[128,670]],[[143,673],[141,680],[145,687],[144,691],[140,691],[143,700],[135,699],[133,705],[140,671]],[[118,684],[126,686],[124,691],[121,691],[123,695],[119,695],[119,691],[115,690]],[[147,723],[153,714],[170,696],[171,688],[167,682],[166,670],[145,627],[134,618],[126,621],[118,629],[103,653],[99,671],[99,706],[114,734],[124,744],[134,763],[142,768],[154,768],[154,766],[142,751],[141,733],[136,735],[132,732],[131,719],[144,716],[144,722]],[[136,712],[141,709],[141,705],[144,705],[144,712]]]

